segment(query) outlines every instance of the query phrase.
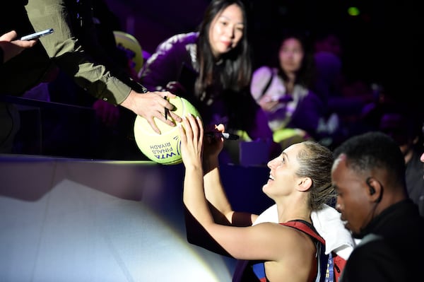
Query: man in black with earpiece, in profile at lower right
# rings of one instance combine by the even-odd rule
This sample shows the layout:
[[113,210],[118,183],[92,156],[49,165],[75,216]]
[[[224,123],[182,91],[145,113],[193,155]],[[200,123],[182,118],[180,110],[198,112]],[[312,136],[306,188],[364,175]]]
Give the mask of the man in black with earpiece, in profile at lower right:
[[424,218],[408,198],[399,145],[370,131],[341,143],[334,158],[336,208],[346,228],[362,239],[340,281],[422,280]]

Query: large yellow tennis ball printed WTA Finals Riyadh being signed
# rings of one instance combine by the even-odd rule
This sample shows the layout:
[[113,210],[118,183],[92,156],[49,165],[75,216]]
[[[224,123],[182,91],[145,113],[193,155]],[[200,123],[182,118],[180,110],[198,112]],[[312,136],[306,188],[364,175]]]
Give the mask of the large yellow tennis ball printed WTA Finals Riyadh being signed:
[[[170,99],[170,103],[175,105],[175,113],[179,117],[187,116],[189,113],[194,117],[200,117],[196,108],[186,99],[177,97]],[[168,114],[168,119],[172,119]],[[176,165],[182,162],[181,141],[179,140],[178,127],[171,127],[164,122],[155,119],[155,123],[161,134],[153,131],[147,120],[141,116],[136,117],[134,122],[134,136],[140,151],[155,163],[163,165]],[[173,120],[175,122],[175,120]],[[177,123],[177,122],[175,122]]]

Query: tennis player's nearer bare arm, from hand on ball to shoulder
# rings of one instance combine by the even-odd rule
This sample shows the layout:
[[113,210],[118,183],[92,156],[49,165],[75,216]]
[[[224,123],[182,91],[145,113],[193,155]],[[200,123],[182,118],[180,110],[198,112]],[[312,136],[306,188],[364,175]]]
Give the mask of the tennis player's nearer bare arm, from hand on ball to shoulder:
[[[262,223],[249,227],[217,224],[208,208],[202,169],[203,124],[199,118],[184,117],[178,124],[184,166],[183,201],[187,214],[187,236],[192,242],[213,252],[229,254],[237,259],[277,260],[283,256],[281,236],[293,232],[276,223]],[[290,228],[291,229],[291,228]],[[212,245],[214,243],[214,245]],[[279,245],[278,245],[279,244]],[[276,247],[278,245],[278,247]],[[249,246],[249,247],[247,247]]]

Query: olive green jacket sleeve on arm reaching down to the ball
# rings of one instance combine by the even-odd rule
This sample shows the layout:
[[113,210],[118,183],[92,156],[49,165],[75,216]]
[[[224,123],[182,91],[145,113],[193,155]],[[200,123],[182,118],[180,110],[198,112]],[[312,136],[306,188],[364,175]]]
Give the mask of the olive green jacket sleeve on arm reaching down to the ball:
[[54,33],[40,38],[48,56],[74,81],[95,98],[120,104],[131,88],[113,76],[106,66],[95,61],[73,33],[71,13],[64,0],[31,0],[25,6],[35,30],[54,28]]

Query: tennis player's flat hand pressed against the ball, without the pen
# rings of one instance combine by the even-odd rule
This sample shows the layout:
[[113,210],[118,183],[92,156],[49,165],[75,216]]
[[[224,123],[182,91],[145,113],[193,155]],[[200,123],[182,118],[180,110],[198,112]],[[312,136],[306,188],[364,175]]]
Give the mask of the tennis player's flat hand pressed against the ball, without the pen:
[[183,117],[179,127],[181,139],[182,162],[188,168],[201,168],[202,147],[204,138],[203,123],[199,117],[189,114]]

